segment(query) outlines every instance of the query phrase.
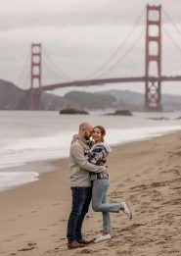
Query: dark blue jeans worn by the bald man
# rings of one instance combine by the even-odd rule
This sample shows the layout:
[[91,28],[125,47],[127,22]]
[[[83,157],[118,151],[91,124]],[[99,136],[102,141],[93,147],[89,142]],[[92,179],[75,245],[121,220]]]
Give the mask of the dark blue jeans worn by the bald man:
[[81,228],[89,209],[92,187],[71,187],[72,205],[68,218],[68,242],[82,238]]

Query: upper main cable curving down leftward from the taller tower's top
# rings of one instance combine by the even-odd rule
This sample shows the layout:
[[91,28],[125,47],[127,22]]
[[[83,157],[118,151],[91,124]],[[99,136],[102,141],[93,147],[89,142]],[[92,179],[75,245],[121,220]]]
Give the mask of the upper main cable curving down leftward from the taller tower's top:
[[132,28],[130,29],[130,31],[127,33],[127,35],[125,36],[124,40],[120,43],[120,45],[117,47],[117,49],[113,52],[113,54],[107,59],[107,61],[99,68],[97,69],[95,72],[91,73],[90,75],[88,75],[86,78],[88,77],[93,77],[94,75],[96,75],[97,73],[99,73],[100,71],[102,71],[112,60],[113,57],[118,53],[118,51],[123,47],[123,45],[126,43],[126,41],[128,40],[129,36],[132,34],[132,32],[134,31],[135,27],[138,25],[138,23],[140,22],[143,14],[145,13],[145,8],[142,10],[141,14],[139,15],[139,17],[137,18],[137,20],[135,21],[135,23],[133,24]]

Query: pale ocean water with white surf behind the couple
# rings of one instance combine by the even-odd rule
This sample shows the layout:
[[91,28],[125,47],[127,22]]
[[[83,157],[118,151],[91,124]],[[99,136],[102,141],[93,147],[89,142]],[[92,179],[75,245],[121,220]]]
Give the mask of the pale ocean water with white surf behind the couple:
[[[72,134],[81,122],[101,125],[111,144],[151,139],[181,129],[181,113],[134,113],[133,117],[59,115],[58,112],[0,111],[0,191],[38,179],[33,170],[15,171],[27,162],[68,157]],[[164,117],[165,120],[155,120]],[[14,170],[15,169],[15,170]]]

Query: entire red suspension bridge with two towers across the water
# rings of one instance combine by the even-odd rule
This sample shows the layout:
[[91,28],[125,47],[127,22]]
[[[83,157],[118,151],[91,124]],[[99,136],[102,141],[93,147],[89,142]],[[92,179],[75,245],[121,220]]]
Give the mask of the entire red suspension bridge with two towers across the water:
[[[171,19],[168,16],[168,19]],[[171,21],[172,22],[172,21]],[[136,26],[137,22],[134,26]],[[152,33],[153,28],[157,31]],[[146,29],[145,30],[145,76],[142,77],[108,77],[108,78],[89,78],[81,80],[68,80],[64,82],[42,85],[42,45],[41,43],[31,44],[31,68],[30,68],[30,88],[27,90],[29,94],[29,109],[43,109],[42,92],[55,90],[58,88],[69,86],[91,86],[105,85],[108,83],[122,82],[143,82],[145,84],[145,110],[162,109],[161,106],[161,82],[165,81],[181,81],[181,76],[163,76],[161,74],[161,5],[146,8]],[[176,27],[178,30],[178,27]],[[179,31],[179,30],[178,30]],[[180,32],[180,31],[179,31]],[[181,32],[180,32],[181,33]],[[170,38],[172,39],[172,38]],[[157,49],[152,53],[151,48],[154,44]],[[178,46],[179,47],[179,46]],[[120,47],[119,47],[120,48]],[[118,50],[118,49],[117,49]],[[117,50],[113,54],[116,54]],[[181,50],[181,49],[180,49]],[[112,57],[106,64],[112,59]],[[125,57],[126,54],[123,56]],[[156,75],[151,76],[151,63],[156,64]],[[115,64],[116,65],[116,64]],[[114,66],[115,66],[114,65]],[[113,67],[114,67],[113,66]],[[102,66],[104,67],[104,65]],[[98,70],[98,72],[102,69]],[[94,74],[96,74],[97,71]],[[68,77],[68,76],[67,76]]]

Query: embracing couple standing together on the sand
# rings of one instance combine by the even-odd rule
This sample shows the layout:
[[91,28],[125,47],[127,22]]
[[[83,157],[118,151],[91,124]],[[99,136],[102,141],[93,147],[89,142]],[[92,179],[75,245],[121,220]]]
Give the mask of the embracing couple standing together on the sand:
[[[105,128],[93,128],[89,123],[80,124],[78,134],[73,135],[69,152],[72,204],[68,218],[68,249],[84,247],[89,243],[111,238],[111,212],[122,211],[132,219],[126,202],[107,202],[110,180],[106,162],[111,149],[104,141],[105,135]],[[102,212],[103,230],[96,239],[86,240],[82,237],[81,229],[91,199],[93,210]]]

